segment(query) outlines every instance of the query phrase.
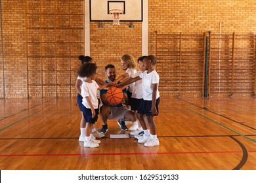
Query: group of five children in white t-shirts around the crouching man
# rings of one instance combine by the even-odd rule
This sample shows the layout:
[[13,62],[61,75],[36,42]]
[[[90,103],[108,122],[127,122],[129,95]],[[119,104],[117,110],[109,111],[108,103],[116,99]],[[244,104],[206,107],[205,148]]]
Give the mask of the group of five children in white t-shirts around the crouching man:
[[[85,58],[89,57],[79,56],[82,63]],[[158,115],[160,103],[158,91],[160,78],[154,70],[156,62],[155,56],[140,57],[138,59],[139,71],[137,72],[135,59],[133,56],[125,54],[121,57],[121,64],[125,73],[112,83],[106,83],[97,77],[97,67],[93,59],[82,64],[78,71],[75,88],[78,92],[77,103],[82,112],[79,141],[83,141],[85,147],[98,147],[100,141],[96,140],[95,137],[104,136],[104,134],[96,131],[94,126],[98,118],[98,105],[100,103],[96,90],[102,90],[108,86],[119,88],[128,86],[129,103],[127,108],[131,107],[138,118],[129,128],[131,135],[135,135],[138,142],[144,143],[144,146],[158,146],[160,144],[154,122],[154,116]]]

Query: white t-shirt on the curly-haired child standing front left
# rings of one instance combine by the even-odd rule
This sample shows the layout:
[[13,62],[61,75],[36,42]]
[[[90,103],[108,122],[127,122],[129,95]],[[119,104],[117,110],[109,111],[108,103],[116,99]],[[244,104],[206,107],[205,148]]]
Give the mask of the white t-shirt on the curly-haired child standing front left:
[[91,107],[89,106],[89,103],[87,103],[87,100],[85,99],[85,97],[89,97],[91,99],[91,103],[93,104],[93,107],[98,108],[98,99],[96,96],[97,89],[98,89],[98,84],[96,83],[95,80],[92,80],[92,83],[83,82],[82,88],[81,88],[81,95],[83,97],[82,104],[86,108],[91,108]]

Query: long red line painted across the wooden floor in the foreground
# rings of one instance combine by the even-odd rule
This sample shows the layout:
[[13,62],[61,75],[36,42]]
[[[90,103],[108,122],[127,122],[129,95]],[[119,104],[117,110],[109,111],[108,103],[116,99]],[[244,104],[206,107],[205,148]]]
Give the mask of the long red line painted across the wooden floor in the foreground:
[[[248,151],[255,153],[256,150]],[[241,154],[242,151],[209,151],[209,152],[134,152],[134,153],[91,153],[91,154],[1,154],[0,157],[30,156],[123,156],[123,155],[165,155],[165,154]]]

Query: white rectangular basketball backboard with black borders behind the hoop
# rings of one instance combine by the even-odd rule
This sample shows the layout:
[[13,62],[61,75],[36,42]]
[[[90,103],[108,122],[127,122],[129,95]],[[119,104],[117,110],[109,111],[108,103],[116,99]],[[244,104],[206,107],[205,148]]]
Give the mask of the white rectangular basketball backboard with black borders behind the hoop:
[[90,21],[113,21],[109,10],[123,10],[120,22],[142,22],[142,0],[90,0]]

